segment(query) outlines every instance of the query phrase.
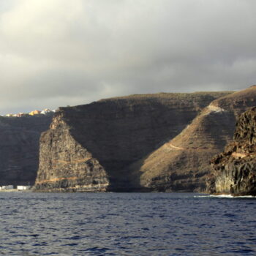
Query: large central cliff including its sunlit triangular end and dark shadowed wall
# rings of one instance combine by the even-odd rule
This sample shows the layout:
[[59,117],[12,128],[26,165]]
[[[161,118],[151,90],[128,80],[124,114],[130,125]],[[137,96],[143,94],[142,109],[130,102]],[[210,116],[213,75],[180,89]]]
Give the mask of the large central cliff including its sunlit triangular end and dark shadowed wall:
[[135,191],[140,159],[174,138],[223,93],[147,94],[60,108],[42,134],[41,191]]

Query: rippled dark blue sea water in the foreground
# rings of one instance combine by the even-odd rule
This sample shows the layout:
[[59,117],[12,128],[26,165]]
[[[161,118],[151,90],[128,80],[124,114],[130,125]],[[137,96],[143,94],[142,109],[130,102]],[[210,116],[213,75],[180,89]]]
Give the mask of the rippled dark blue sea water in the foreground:
[[256,198],[10,192],[0,208],[0,255],[256,255]]

